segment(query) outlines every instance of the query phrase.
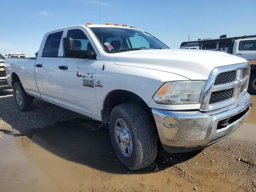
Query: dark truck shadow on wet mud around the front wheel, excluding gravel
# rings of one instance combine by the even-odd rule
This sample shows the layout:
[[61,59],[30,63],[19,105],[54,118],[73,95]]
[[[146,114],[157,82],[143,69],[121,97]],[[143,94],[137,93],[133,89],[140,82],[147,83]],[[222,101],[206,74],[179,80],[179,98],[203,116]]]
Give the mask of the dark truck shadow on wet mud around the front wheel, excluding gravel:
[[67,160],[114,174],[144,174],[161,171],[196,156],[199,152],[169,154],[159,151],[156,161],[142,170],[130,171],[116,157],[108,129],[98,129],[94,120],[77,119],[57,123],[27,136],[46,150]]

